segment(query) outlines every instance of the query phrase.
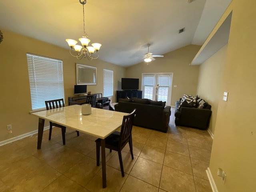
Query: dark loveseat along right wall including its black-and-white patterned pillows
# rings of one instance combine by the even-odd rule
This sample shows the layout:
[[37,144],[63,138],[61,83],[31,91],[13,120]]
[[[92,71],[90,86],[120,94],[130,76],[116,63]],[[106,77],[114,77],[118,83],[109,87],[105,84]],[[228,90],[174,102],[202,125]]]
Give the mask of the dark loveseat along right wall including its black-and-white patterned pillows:
[[211,105],[198,96],[184,95],[175,103],[175,124],[206,130],[211,118]]

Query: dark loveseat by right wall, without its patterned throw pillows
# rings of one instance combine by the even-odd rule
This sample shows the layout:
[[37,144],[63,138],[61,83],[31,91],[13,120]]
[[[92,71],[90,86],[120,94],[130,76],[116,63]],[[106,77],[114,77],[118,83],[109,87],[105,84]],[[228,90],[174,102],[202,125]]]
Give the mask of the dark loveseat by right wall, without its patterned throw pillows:
[[208,128],[212,115],[210,104],[205,102],[202,108],[189,106],[188,104],[180,106],[180,104],[181,101],[176,101],[175,103],[174,116],[177,126],[190,126],[200,130],[206,130]]

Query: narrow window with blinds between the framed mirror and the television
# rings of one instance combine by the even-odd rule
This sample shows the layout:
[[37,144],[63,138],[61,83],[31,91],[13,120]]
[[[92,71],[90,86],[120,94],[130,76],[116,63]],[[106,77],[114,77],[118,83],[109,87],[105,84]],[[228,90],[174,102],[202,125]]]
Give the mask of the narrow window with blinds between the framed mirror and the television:
[[103,69],[103,96],[113,96],[113,71]]

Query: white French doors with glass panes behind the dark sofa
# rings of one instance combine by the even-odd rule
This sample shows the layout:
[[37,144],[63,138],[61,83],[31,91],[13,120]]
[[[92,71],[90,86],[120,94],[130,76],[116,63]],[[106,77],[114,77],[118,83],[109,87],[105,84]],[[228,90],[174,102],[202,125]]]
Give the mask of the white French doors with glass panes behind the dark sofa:
[[[142,97],[171,105],[172,73],[142,74]],[[157,85],[159,86],[157,87]]]

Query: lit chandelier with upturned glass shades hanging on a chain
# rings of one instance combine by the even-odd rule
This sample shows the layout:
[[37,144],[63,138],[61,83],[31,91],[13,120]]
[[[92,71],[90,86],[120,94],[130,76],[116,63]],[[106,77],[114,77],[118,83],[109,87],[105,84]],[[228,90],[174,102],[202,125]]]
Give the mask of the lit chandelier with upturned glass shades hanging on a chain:
[[[84,16],[84,4],[86,4],[86,0],[79,0],[80,4],[83,5],[83,16]],[[68,45],[70,46],[70,54],[77,59],[88,58],[88,60],[97,59],[99,57],[98,50],[100,49],[101,44],[99,43],[92,43],[92,46],[88,46],[89,42],[91,41],[88,39],[88,35],[85,32],[85,25],[84,25],[84,35],[82,38],[79,38],[82,46],[77,45],[77,41],[73,39],[66,39]]]

